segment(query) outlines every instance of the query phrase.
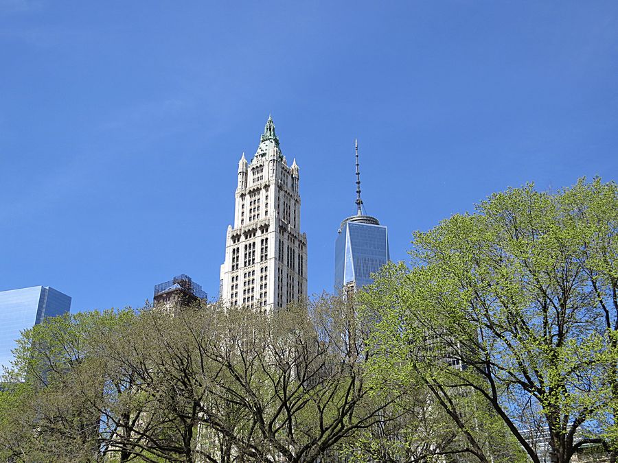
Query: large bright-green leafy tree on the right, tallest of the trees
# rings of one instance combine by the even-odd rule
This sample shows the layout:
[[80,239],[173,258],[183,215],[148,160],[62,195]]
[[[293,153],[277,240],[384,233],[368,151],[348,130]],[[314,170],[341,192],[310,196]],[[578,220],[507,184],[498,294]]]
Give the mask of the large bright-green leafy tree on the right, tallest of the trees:
[[461,399],[483,399],[534,462],[539,432],[555,462],[615,449],[617,230],[617,185],[582,179],[496,193],[415,233],[413,266],[389,266],[365,297],[375,368],[424,383],[481,461],[492,433]]

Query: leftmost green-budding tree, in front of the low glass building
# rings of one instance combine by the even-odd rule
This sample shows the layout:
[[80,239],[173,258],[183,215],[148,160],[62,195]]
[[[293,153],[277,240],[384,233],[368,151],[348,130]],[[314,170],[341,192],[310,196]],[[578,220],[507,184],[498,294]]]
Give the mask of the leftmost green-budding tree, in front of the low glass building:
[[117,399],[107,392],[119,379],[100,340],[128,329],[134,316],[67,314],[23,333],[0,407],[0,451],[25,461],[98,458]]

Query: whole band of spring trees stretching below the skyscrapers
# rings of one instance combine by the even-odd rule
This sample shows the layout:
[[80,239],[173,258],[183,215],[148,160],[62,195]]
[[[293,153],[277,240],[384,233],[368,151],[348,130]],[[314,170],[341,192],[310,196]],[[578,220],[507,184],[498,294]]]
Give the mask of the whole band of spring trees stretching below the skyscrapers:
[[1,384],[0,459],[615,462],[617,230],[614,182],[527,185],[354,295],[49,318]]

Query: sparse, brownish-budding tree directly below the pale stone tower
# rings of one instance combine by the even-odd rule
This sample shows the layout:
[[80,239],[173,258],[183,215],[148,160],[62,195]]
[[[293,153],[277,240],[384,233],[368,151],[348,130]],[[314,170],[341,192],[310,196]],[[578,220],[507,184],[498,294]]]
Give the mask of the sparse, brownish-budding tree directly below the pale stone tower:
[[209,453],[213,461],[316,461],[393,401],[376,400],[380,392],[365,383],[365,335],[339,298],[270,314],[206,310],[183,319],[199,359],[192,389],[201,429],[225,442]]

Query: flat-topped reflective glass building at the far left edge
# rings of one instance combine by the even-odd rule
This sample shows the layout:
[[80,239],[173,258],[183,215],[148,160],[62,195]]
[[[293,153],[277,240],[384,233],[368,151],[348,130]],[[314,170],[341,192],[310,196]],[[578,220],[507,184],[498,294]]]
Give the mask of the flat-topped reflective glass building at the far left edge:
[[10,365],[11,350],[16,347],[20,331],[70,309],[71,298],[52,287],[33,286],[0,292],[0,376],[1,367]]

